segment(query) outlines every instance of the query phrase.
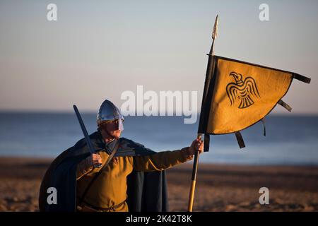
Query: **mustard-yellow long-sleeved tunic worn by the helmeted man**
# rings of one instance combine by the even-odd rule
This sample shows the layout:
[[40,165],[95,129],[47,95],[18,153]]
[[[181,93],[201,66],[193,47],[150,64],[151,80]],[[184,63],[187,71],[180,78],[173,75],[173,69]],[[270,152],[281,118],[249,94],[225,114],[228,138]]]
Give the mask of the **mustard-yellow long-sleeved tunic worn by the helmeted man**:
[[[109,155],[102,151],[100,156],[102,157],[102,165],[104,165]],[[144,172],[160,171],[187,162],[187,160],[192,160],[192,155],[187,154],[187,148],[153,155],[117,157],[117,162],[111,161],[107,167],[102,169],[102,173],[93,182],[83,202],[99,208],[117,206],[126,200],[126,177],[133,169]],[[93,167],[88,170],[81,169],[81,165],[78,165],[76,186],[78,197],[83,195],[90,180],[99,170],[98,168],[93,169]],[[112,210],[128,211],[128,206],[124,203],[119,208]]]

